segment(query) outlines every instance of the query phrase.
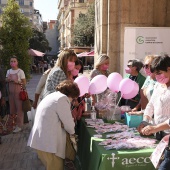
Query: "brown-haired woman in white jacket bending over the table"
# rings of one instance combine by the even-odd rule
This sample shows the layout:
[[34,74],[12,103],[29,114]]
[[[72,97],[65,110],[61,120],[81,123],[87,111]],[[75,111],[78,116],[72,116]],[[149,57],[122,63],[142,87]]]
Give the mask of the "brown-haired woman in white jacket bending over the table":
[[75,133],[70,103],[79,95],[77,84],[65,80],[37,107],[28,146],[36,149],[47,170],[64,169],[66,132]]

